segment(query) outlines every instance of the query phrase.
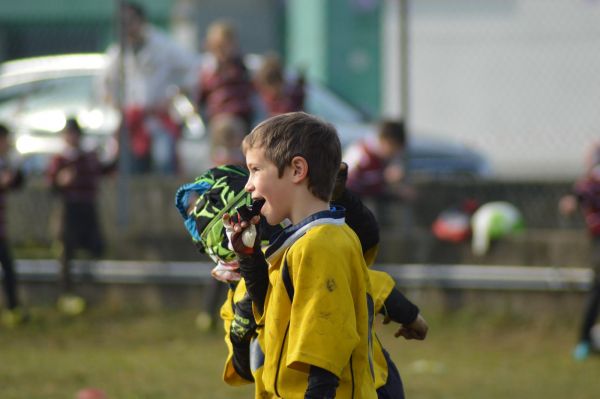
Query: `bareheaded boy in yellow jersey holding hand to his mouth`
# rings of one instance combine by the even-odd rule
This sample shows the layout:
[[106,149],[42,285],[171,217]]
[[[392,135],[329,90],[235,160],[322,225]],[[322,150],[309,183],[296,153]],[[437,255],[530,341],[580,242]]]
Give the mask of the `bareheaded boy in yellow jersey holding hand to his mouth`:
[[258,324],[264,324],[267,394],[376,398],[367,267],[344,211],[329,207],[341,161],[335,128],[302,112],[278,115],[246,136],[243,150],[246,190],[264,201],[260,217],[270,225],[291,222],[271,240],[267,263],[259,240],[248,234],[260,217],[224,217]]

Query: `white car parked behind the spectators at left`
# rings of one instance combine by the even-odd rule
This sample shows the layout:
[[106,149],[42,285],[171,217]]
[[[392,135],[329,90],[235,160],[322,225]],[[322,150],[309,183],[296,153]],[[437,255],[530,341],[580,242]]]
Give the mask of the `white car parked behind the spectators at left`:
[[[84,148],[107,157],[114,152],[120,114],[101,101],[97,90],[105,64],[103,54],[72,54],[8,61],[0,66],[0,121],[14,132],[15,148],[26,172],[41,173],[49,157],[61,150],[59,132],[69,117],[76,117],[85,131]],[[188,141],[203,151],[195,160],[197,167],[184,163],[184,171],[201,171],[208,165],[202,120],[185,96],[176,96],[172,105],[184,127],[180,152],[189,149]]]

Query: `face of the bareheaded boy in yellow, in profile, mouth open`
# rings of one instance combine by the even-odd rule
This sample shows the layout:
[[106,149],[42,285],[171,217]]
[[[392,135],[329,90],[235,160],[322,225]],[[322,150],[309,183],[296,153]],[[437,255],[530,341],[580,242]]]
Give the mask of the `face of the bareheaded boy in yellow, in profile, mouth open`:
[[245,189],[252,195],[252,199],[264,198],[265,204],[260,213],[267,219],[267,223],[274,226],[290,218],[291,168],[286,168],[283,176],[279,177],[277,166],[265,158],[262,148],[248,149],[246,164],[250,177]]

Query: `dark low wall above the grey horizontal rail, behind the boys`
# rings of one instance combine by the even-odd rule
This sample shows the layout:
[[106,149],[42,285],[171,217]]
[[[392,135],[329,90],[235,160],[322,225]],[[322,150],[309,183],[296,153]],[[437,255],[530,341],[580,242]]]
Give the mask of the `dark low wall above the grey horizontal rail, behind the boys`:
[[[176,211],[174,195],[182,180],[139,178],[131,181],[129,223],[116,223],[116,184],[105,181],[100,200],[101,219],[109,259],[197,260]],[[556,212],[560,196],[570,183],[421,182],[420,196],[407,207],[401,203],[368,202],[381,224],[380,263],[483,263],[543,266],[586,266],[587,239],[581,218],[561,219]],[[444,209],[464,199],[480,202],[506,200],[523,213],[525,233],[505,239],[483,258],[474,258],[468,246],[434,240],[431,222]],[[12,242],[21,256],[51,256],[54,199],[41,181],[9,196]],[[53,216],[54,215],[54,216]]]

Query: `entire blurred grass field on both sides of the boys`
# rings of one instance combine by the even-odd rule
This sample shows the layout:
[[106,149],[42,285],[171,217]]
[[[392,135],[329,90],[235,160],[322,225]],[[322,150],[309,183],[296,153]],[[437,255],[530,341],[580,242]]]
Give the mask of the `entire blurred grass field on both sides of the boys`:
[[[573,323],[430,313],[424,342],[395,339],[391,328],[379,328],[408,398],[600,397],[600,356],[581,363],[570,357]],[[67,319],[34,309],[29,324],[0,328],[0,398],[69,399],[87,386],[111,399],[251,398],[251,387],[221,381],[221,334],[201,334],[194,317],[189,310],[91,309]]]

